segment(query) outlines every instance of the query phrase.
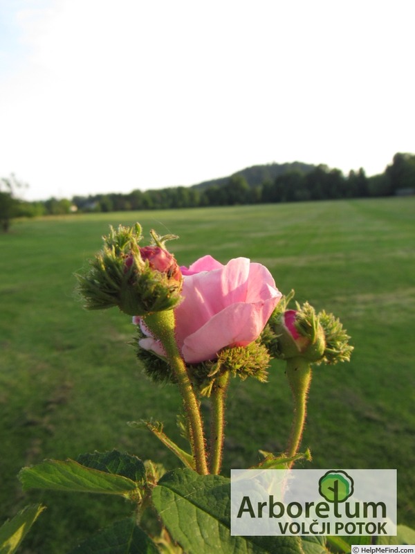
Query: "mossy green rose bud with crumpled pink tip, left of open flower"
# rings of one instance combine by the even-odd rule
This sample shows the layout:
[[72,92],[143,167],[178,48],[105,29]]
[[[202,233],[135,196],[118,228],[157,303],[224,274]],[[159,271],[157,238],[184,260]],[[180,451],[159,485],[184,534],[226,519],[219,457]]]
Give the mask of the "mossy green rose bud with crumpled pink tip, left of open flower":
[[110,234],[104,237],[104,248],[91,260],[89,271],[77,276],[86,308],[118,306],[126,314],[143,316],[178,305],[180,268],[165,249],[163,238],[154,231],[151,236],[155,244],[139,247],[140,225],[120,225],[117,230],[111,227]]

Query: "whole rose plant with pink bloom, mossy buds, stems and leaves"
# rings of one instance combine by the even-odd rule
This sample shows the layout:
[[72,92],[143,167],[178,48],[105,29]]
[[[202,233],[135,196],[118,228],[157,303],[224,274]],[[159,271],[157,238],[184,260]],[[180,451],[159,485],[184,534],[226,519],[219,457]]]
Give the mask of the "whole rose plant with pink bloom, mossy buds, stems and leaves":
[[[159,422],[129,425],[147,427],[183,467],[165,472],[156,462],[132,454],[94,452],[76,461],[46,460],[26,467],[19,474],[21,483],[25,489],[116,494],[131,502],[130,518],[86,539],[73,554],[329,551],[322,537],[313,542],[230,535],[230,481],[220,474],[225,399],[231,377],[266,382],[270,359],[282,360],[294,400],[291,435],[284,452],[261,451],[264,459],[257,467],[289,468],[300,458],[310,459],[308,450],[299,449],[311,365],[349,360],[353,348],[348,335],[338,319],[316,313],[308,303],[288,309],[293,293],[282,296],[268,269],[247,258],[223,265],[203,256],[190,267],[179,267],[165,245],[172,238],[151,231],[151,244],[142,247],[140,225],[111,228],[89,270],[77,278],[87,308],[118,306],[133,316],[136,354],[147,376],[178,387],[183,401],[178,425],[187,450]],[[210,402],[210,429],[201,414],[202,397]],[[147,509],[158,517],[156,534],[145,528]],[[30,511],[27,521],[21,517],[29,526],[38,513]],[[336,551],[347,548],[336,542]]]

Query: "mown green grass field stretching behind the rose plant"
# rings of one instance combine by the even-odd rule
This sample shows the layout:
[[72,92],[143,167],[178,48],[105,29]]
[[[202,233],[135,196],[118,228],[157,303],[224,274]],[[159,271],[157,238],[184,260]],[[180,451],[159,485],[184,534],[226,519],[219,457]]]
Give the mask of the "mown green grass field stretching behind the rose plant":
[[[143,377],[128,316],[86,312],[74,292],[73,274],[109,224],[136,221],[147,236],[180,235],[169,245],[181,265],[246,256],[283,293],[340,317],[355,351],[351,363],[313,372],[307,467],[397,468],[398,523],[414,526],[414,198],[73,215],[15,222],[0,235],[0,523],[28,503],[48,506],[21,551],[64,553],[129,512],[119,499],[23,493],[22,466],[117,448],[176,467],[155,438],[126,425],[153,417],[177,437],[176,390]],[[234,380],[227,420],[225,474],[255,464],[259,449],[284,450],[284,365],[270,368],[268,384]]]

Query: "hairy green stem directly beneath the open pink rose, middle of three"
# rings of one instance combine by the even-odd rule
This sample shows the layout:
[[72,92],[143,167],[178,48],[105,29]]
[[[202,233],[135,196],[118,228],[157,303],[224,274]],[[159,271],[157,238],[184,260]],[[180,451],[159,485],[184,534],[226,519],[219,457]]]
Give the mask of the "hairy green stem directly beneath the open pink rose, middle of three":
[[230,372],[225,371],[218,377],[213,386],[210,402],[212,407],[210,420],[210,473],[219,474],[222,465],[223,439],[225,434],[225,398],[230,379]]

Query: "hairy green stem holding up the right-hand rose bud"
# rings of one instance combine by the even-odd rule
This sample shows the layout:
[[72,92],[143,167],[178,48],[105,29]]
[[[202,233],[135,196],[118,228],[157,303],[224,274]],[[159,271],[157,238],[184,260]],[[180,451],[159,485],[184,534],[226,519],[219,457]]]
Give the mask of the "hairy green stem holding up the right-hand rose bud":
[[[291,358],[287,360],[286,373],[294,399],[293,424],[286,451],[288,458],[292,458],[298,452],[306,422],[307,394],[311,383],[311,366],[304,358]],[[292,461],[289,467],[292,467],[293,463]]]

